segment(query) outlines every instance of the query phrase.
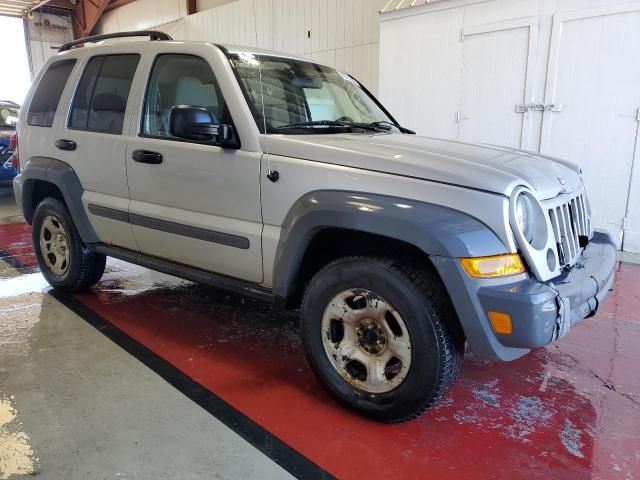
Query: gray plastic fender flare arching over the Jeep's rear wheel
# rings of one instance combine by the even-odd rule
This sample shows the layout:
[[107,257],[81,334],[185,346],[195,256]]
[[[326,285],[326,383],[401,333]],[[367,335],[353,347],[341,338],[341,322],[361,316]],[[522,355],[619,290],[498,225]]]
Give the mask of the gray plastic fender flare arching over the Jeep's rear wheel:
[[22,214],[27,223],[33,220],[33,190],[36,182],[44,181],[58,187],[62,192],[69,213],[84,243],[98,243],[98,236],[93,230],[87,212],[82,205],[84,189],[76,172],[68,164],[48,157],[33,157],[25,166],[17,179],[21,186],[20,204]]

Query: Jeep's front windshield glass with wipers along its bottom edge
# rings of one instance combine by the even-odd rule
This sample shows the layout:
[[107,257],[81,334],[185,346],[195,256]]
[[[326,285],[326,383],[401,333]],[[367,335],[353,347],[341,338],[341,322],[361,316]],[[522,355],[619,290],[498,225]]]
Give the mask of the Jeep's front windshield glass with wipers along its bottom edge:
[[268,55],[238,54],[231,62],[262,133],[265,123],[268,133],[359,132],[376,123],[395,128],[357,81],[333,68]]

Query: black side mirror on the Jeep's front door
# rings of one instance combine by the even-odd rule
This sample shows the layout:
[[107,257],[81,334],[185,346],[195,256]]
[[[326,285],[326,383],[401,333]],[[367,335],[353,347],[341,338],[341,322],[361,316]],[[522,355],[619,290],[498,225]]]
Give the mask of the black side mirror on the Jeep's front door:
[[240,148],[232,125],[217,124],[209,110],[194,105],[176,105],[169,111],[169,133],[196,142],[213,142],[222,148]]

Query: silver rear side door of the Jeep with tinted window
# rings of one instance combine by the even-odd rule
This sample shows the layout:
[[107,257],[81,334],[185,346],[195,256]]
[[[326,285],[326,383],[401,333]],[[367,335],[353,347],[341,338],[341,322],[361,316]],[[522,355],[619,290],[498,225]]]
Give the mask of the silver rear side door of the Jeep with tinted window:
[[124,161],[131,85],[140,55],[87,56],[65,125],[56,131],[56,156],[69,163],[84,189],[83,204],[98,238],[137,250],[127,222]]

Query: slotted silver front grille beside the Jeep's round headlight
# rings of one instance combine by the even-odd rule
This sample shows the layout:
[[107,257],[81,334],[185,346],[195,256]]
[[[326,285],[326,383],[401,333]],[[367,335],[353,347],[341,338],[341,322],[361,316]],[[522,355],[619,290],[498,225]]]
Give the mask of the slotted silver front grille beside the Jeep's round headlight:
[[591,235],[589,206],[583,191],[545,202],[558,245],[560,266],[576,263]]

